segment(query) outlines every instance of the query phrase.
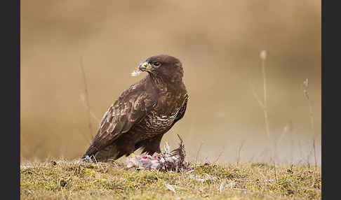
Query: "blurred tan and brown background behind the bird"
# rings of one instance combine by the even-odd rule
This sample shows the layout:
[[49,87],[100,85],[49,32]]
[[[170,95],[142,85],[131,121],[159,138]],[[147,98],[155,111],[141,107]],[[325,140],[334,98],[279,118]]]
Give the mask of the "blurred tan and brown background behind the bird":
[[[20,3],[21,159],[81,157],[95,118],[147,75],[130,73],[147,57],[168,54],[182,61],[189,102],[161,145],[177,148],[180,134],[189,161],[314,164],[315,138],[321,164],[321,1]],[[270,137],[251,90],[262,99],[261,50]]]

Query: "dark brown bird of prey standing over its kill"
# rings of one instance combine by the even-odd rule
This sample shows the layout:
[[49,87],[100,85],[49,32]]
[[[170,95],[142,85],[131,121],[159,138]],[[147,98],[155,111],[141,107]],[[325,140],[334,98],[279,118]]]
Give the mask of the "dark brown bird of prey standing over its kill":
[[148,75],[131,85],[109,107],[85,155],[99,162],[133,155],[135,150],[153,155],[160,142],[186,111],[187,90],[179,59],[154,55],[138,66]]

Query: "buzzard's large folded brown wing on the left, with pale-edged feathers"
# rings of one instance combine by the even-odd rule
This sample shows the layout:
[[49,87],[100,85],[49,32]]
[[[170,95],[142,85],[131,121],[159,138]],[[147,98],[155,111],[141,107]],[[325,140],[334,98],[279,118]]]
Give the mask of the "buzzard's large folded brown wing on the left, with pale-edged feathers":
[[143,87],[141,82],[131,85],[109,107],[102,117],[98,133],[86,151],[86,155],[94,155],[95,152],[107,147],[149,113],[157,101],[156,97],[147,94]]

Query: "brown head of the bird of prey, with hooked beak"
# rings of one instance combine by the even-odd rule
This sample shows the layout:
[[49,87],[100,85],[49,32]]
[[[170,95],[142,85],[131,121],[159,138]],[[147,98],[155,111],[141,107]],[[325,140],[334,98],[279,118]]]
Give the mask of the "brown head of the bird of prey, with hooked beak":
[[140,71],[147,71],[152,76],[175,82],[182,80],[183,69],[179,59],[169,55],[154,55],[139,66]]

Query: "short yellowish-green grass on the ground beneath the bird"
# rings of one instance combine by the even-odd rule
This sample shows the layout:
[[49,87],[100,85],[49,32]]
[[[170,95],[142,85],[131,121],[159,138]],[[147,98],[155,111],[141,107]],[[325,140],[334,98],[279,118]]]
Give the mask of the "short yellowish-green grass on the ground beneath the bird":
[[[182,173],[48,159],[20,167],[21,199],[321,199],[321,167],[191,164]],[[166,187],[168,185],[168,187]],[[170,186],[169,186],[170,185]],[[172,191],[174,189],[174,191]]]

